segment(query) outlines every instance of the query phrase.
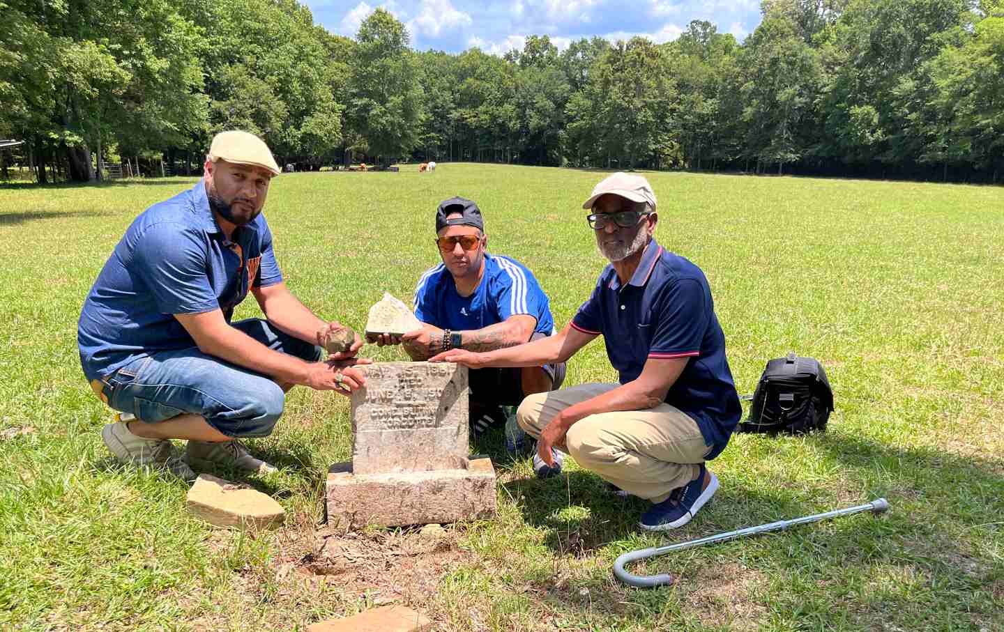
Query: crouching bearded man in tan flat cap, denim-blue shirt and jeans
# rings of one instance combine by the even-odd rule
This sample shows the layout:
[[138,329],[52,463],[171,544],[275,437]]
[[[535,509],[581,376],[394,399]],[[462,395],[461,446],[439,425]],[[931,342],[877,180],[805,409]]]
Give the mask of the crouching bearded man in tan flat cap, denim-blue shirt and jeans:
[[[84,375],[129,413],[101,437],[122,462],[192,480],[191,465],[274,470],[236,437],[266,436],[295,384],[349,394],[363,383],[356,336],[326,361],[317,346],[337,323],[314,316],[286,288],[261,215],[280,173],[245,131],[213,138],[203,180],[154,205],[126,231],[80,313]],[[231,322],[251,292],[266,320]],[[169,439],[188,439],[179,457]]]

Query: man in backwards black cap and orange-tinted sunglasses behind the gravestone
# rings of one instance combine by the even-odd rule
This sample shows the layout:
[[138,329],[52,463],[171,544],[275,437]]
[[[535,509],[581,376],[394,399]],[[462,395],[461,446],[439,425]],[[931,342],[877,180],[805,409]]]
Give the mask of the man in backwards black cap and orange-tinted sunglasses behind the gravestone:
[[[549,336],[554,319],[547,296],[526,267],[509,257],[488,254],[481,210],[464,198],[443,201],[436,210],[436,244],[443,263],[430,268],[415,290],[415,314],[426,325],[403,336],[383,335],[382,346],[403,342],[415,360],[451,348],[490,351]],[[472,371],[471,425],[481,433],[517,406],[523,397],[557,388],[564,363],[522,369]],[[520,446],[508,436],[507,446]]]

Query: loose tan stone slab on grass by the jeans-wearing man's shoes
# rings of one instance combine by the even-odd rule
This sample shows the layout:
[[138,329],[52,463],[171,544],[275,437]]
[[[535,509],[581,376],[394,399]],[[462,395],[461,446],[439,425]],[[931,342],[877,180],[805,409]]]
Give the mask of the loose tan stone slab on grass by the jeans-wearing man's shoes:
[[217,527],[271,529],[286,516],[268,495],[207,473],[196,479],[186,506],[197,518]]

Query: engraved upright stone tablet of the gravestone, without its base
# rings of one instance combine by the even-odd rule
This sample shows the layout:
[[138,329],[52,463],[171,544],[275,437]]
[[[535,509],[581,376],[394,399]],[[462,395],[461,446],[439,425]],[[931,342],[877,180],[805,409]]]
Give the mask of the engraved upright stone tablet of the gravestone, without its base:
[[379,362],[355,367],[355,475],[462,469],[468,453],[467,367],[450,362]]

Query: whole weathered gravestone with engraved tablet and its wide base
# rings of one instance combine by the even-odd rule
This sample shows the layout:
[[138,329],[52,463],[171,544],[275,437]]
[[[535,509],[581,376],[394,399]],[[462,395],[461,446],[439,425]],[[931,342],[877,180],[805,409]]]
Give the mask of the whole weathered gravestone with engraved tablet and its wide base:
[[359,365],[352,393],[352,461],[331,466],[328,524],[397,527],[495,513],[489,458],[468,458],[467,368],[452,363]]

